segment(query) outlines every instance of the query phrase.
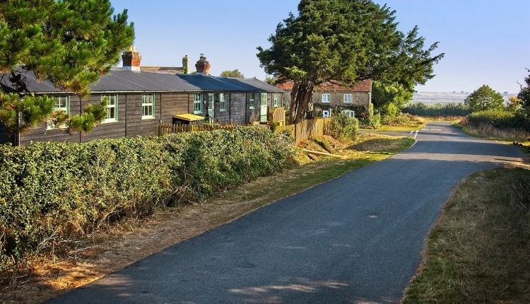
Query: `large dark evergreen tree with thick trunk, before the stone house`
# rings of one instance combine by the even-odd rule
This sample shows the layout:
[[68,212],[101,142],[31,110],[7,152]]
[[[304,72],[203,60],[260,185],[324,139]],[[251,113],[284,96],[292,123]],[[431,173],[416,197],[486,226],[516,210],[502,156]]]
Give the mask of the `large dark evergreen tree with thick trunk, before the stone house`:
[[271,47],[258,47],[267,74],[278,82],[293,81],[290,122],[304,119],[315,86],[340,81],[351,85],[372,78],[412,91],[432,78],[431,56],[418,28],[397,30],[395,11],[371,0],[302,0],[298,16],[290,13],[269,37]]

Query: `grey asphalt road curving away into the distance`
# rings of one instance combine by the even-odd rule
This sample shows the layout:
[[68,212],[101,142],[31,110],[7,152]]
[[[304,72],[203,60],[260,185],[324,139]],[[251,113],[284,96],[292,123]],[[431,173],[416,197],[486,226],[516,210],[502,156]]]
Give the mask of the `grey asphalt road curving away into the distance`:
[[444,123],[417,140],[50,303],[397,303],[457,182],[523,157]]

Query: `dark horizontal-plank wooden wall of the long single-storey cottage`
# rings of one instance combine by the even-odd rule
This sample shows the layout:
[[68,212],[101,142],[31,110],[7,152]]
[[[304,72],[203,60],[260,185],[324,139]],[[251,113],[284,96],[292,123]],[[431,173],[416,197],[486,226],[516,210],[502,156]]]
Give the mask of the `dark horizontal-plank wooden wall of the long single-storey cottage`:
[[[203,113],[208,114],[208,92],[203,94]],[[220,111],[219,93],[215,93],[215,118],[218,122],[232,124],[247,124],[259,121],[260,93],[255,92],[254,109],[249,109],[250,93],[224,92],[227,109]],[[108,95],[108,94],[105,94]],[[155,117],[142,119],[142,93],[118,94],[118,121],[98,124],[88,134],[64,134],[63,131],[47,130],[47,123],[30,129],[20,135],[20,144],[26,145],[30,141],[67,141],[73,143],[86,142],[94,139],[119,138],[124,136],[153,136],[158,134],[158,124],[171,123],[175,114],[194,112],[194,93],[154,93]],[[274,93],[267,93],[267,104],[273,107]],[[90,94],[88,100],[81,101],[74,95],[70,98],[70,115],[81,114],[87,105],[101,102],[101,94]],[[283,106],[282,95],[278,94],[278,107]],[[14,136],[8,136],[0,125],[0,143],[14,142]]]

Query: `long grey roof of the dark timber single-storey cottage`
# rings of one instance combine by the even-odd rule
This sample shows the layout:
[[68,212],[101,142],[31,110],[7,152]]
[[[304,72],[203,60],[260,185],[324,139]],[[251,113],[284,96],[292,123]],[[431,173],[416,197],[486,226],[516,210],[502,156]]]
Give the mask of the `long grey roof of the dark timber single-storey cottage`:
[[[37,81],[35,74],[23,73],[28,90],[34,93],[61,92],[49,81]],[[8,75],[0,76],[0,84],[13,88]],[[90,86],[90,91],[100,92],[196,92],[196,91],[228,91],[228,92],[283,92],[268,83],[256,78],[237,79],[200,74],[163,74],[153,72],[137,72],[126,69],[112,69]]]

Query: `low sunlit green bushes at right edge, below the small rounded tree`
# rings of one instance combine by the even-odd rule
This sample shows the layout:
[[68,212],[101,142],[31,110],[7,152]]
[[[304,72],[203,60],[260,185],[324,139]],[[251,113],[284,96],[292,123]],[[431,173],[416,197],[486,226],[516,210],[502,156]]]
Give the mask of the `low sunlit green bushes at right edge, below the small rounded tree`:
[[519,128],[530,131],[530,124],[523,115],[505,109],[473,112],[469,115],[468,122],[476,126],[480,124],[491,124],[493,127],[499,129]]

